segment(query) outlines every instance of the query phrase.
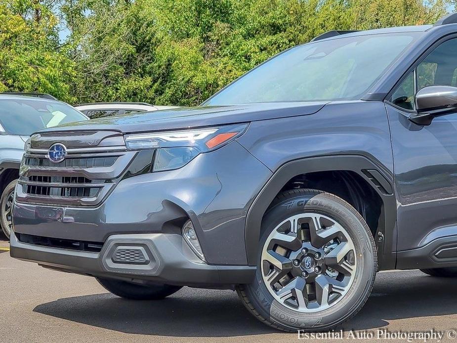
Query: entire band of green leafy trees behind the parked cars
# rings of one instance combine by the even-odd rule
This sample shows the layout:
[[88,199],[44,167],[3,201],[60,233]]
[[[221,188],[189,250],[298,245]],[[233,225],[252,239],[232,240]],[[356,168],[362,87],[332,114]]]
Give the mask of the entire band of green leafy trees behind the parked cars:
[[197,105],[326,31],[429,24],[447,8],[445,0],[0,0],[0,91]]

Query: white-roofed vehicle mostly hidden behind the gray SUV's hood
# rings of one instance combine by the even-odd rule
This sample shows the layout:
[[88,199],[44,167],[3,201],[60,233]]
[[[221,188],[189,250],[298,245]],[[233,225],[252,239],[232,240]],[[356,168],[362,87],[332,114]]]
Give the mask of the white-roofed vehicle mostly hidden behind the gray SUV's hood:
[[135,112],[167,110],[176,107],[177,106],[156,106],[146,102],[95,102],[92,104],[80,104],[75,106],[76,109],[83,112],[90,119]]

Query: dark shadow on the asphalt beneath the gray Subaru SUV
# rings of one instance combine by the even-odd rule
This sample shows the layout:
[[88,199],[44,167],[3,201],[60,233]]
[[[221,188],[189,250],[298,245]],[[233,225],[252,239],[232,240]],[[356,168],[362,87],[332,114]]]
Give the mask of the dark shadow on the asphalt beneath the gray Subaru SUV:
[[[419,271],[378,274],[372,296],[343,329],[376,329],[393,319],[455,314],[455,284],[455,279],[435,278]],[[235,294],[210,291],[206,295],[200,290],[193,298],[193,291],[186,291],[184,297],[181,292],[156,301],[88,295],[44,303],[34,311],[133,334],[230,337],[277,332],[249,314]]]

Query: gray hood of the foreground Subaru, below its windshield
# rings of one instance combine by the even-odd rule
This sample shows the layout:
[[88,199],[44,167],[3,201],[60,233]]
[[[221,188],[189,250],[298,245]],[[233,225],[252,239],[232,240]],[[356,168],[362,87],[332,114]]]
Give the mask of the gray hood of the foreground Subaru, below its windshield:
[[234,106],[181,107],[69,123],[40,132],[115,130],[122,133],[186,129],[309,115],[327,102],[261,103]]

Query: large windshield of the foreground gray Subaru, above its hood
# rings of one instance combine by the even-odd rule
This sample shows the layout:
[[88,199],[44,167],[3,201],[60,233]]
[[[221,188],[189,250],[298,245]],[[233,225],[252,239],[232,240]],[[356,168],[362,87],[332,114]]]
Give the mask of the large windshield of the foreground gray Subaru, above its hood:
[[204,105],[360,99],[417,35],[377,34],[299,45],[245,74]]

